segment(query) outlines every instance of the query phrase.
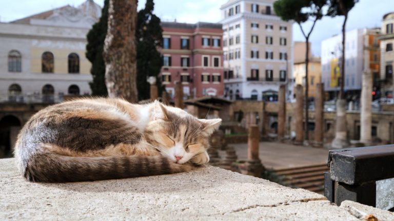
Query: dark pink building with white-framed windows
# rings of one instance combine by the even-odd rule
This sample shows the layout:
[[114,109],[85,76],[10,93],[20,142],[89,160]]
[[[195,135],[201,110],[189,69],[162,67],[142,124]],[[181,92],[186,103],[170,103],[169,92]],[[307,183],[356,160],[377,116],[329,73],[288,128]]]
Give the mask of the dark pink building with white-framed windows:
[[182,81],[185,96],[223,96],[222,25],[162,22],[163,67],[161,78],[173,96]]

